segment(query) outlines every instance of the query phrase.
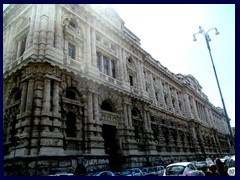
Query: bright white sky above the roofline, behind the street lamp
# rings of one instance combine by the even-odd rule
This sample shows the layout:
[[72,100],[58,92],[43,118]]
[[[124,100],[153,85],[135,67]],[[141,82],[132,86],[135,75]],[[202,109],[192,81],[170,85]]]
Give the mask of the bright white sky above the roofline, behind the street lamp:
[[[231,126],[235,127],[234,4],[112,4],[125,26],[141,39],[141,47],[174,74],[193,75],[209,101],[222,106],[201,26],[210,47]],[[3,6],[6,8],[6,6]]]

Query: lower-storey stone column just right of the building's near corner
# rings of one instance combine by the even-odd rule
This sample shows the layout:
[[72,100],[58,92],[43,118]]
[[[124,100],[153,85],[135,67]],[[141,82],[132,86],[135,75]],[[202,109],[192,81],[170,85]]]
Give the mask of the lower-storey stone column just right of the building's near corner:
[[51,90],[51,80],[45,77],[44,85],[43,85],[42,115],[49,115],[50,113],[50,100],[51,100],[50,90]]

